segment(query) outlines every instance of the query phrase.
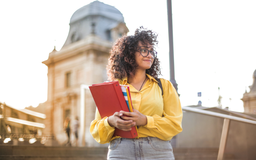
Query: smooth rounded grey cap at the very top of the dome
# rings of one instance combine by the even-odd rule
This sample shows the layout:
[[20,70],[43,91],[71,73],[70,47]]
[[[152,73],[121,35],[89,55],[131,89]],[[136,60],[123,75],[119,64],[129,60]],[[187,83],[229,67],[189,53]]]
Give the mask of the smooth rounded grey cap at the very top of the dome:
[[124,22],[123,14],[115,7],[100,1],[94,1],[78,9],[71,17],[70,23],[74,23],[90,15],[100,15],[110,19]]

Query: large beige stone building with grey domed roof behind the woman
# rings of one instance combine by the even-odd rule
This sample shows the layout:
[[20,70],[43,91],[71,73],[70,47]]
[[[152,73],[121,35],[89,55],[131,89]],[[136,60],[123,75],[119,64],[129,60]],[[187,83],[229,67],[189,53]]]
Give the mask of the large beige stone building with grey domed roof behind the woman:
[[[78,9],[70,19],[67,40],[60,51],[55,48],[43,61],[48,66],[48,99],[46,101],[45,133],[52,133],[59,144],[67,140],[63,131],[66,117],[80,120],[80,85],[107,80],[106,65],[113,41],[129,30],[124,17],[113,6],[94,1]],[[90,91],[85,92],[85,132],[89,133],[96,105]],[[89,133],[90,134],[90,133]],[[86,134],[86,135],[89,135]],[[81,136],[81,135],[79,135]],[[84,135],[83,135],[84,136]],[[71,138],[74,138],[74,134]],[[88,147],[98,144],[90,136],[83,137]],[[50,145],[50,144],[49,144]]]

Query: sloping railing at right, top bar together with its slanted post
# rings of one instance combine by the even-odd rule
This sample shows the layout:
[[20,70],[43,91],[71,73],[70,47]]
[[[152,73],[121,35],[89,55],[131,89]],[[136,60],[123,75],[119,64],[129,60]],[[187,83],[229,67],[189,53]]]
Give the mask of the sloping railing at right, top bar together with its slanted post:
[[221,142],[219,144],[219,152],[218,152],[217,160],[223,160],[224,149],[226,146],[227,133],[229,131],[230,120],[236,120],[236,121],[241,121],[241,122],[245,122],[245,123],[256,124],[256,121],[253,121],[253,120],[243,119],[240,117],[225,115],[225,114],[211,112],[211,111],[205,111],[203,109],[197,109],[197,108],[192,108],[192,107],[182,107],[182,110],[224,118],[224,123],[223,123],[222,133],[221,133]]

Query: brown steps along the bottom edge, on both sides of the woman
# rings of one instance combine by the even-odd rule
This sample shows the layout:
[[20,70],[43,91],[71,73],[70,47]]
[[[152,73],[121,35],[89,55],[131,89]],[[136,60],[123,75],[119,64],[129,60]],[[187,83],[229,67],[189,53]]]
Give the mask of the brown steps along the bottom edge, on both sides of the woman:
[[[218,148],[173,148],[175,160],[217,160]],[[106,160],[108,148],[0,145],[0,160]],[[234,160],[225,155],[225,160]]]

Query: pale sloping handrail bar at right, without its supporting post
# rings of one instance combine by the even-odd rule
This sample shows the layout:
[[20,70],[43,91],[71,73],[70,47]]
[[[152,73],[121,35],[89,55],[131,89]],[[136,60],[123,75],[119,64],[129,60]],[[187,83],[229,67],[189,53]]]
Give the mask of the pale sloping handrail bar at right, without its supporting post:
[[202,113],[202,114],[205,114],[205,115],[211,115],[211,116],[215,116],[215,117],[227,118],[227,119],[246,122],[246,123],[251,123],[251,124],[256,124],[256,121],[253,121],[253,120],[248,120],[248,119],[244,119],[244,118],[240,118],[240,117],[225,115],[225,114],[222,114],[222,113],[206,111],[206,110],[198,109],[198,108],[192,108],[192,107],[185,106],[185,107],[182,107],[182,110],[196,112],[196,113]]

